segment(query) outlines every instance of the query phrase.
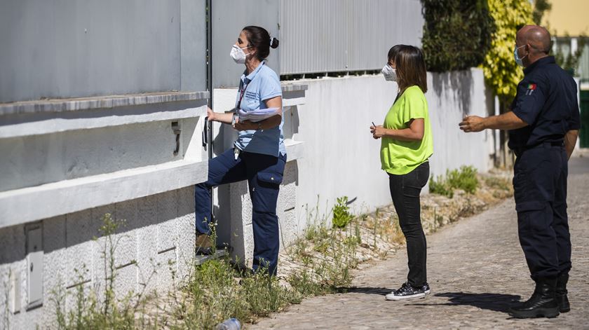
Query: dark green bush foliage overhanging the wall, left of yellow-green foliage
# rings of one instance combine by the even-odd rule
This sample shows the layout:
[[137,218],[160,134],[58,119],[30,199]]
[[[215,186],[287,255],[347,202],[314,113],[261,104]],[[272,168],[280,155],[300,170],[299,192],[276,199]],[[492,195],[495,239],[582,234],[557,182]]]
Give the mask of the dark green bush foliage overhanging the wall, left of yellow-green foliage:
[[487,0],[421,0],[428,71],[478,67],[491,46],[494,24]]

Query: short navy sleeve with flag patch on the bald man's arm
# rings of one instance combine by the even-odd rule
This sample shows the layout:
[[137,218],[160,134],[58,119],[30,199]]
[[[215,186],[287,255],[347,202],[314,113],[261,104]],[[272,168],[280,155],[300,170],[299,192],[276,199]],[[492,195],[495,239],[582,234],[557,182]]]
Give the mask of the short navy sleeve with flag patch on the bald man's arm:
[[517,98],[511,109],[513,114],[528,125],[532,125],[546,103],[547,90],[548,87],[537,78],[520,82],[517,85]]

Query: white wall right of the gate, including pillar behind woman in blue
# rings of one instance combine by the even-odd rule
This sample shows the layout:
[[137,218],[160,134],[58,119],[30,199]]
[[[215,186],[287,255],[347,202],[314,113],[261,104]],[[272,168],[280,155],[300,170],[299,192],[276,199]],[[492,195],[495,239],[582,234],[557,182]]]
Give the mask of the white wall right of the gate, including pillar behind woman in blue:
[[[380,75],[283,84],[308,86],[304,101],[285,111],[285,137],[302,142],[304,151],[295,160],[289,157],[280,190],[277,212],[284,246],[301,235],[316,215],[329,213],[340,196],[356,198],[351,204],[356,214],[391,203],[388,177],[380,165],[380,140],[372,139],[369,128],[372,121],[377,125],[384,121],[397,85],[384,81]],[[482,71],[428,74],[428,88],[426,98],[434,139],[431,174],[445,174],[447,169],[461,165],[473,165],[480,172],[489,170],[494,152],[493,133],[466,135],[458,128],[466,114],[487,116],[494,111],[493,100],[485,92]],[[235,92],[216,90],[214,102],[219,108],[215,111],[229,110],[235,102]],[[216,132],[215,152],[220,153],[231,147],[235,133],[226,127],[217,128]],[[229,242],[240,258],[251,259],[251,202],[247,184],[232,184],[217,191],[219,239]],[[320,214],[312,211],[316,207]]]

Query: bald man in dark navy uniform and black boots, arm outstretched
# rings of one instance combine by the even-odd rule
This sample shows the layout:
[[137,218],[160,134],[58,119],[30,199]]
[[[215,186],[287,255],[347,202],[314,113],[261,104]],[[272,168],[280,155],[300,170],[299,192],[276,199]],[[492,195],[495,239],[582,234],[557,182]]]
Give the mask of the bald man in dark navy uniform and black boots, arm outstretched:
[[536,25],[515,38],[515,61],[524,67],[511,111],[500,116],[467,116],[464,132],[510,130],[517,159],[513,188],[520,245],[536,282],[528,301],[510,308],[513,317],[555,317],[570,310],[567,281],[571,239],[567,218],[568,159],[580,127],[574,79],[555,63],[550,34]]

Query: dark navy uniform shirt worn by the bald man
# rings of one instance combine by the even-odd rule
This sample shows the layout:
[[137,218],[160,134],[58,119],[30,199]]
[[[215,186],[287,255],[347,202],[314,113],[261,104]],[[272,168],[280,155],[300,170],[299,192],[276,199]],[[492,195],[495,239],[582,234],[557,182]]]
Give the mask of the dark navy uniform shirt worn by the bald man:
[[524,69],[511,110],[528,124],[509,131],[508,145],[513,150],[562,142],[569,130],[581,126],[576,83],[553,56],[543,57]]

